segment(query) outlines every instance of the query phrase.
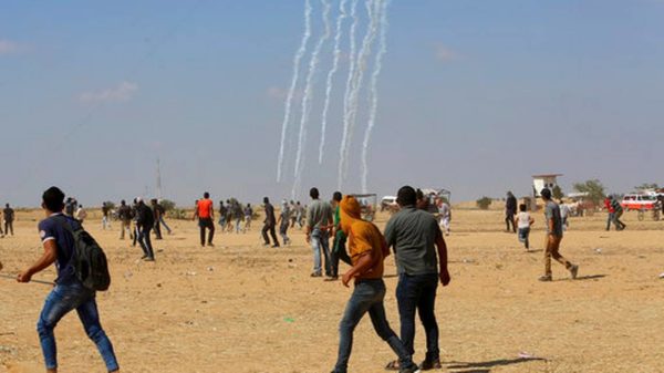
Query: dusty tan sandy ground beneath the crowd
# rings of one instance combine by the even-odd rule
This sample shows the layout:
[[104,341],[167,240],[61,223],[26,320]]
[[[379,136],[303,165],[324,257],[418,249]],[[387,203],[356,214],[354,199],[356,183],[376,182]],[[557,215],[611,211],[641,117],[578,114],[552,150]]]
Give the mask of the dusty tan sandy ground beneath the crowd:
[[[604,216],[571,220],[561,252],[580,265],[568,280],[540,283],[542,218],[533,251],[501,231],[499,211],[456,210],[448,238],[453,282],[438,290],[446,372],[664,372],[664,221],[603,230]],[[0,239],[2,273],[40,253],[38,214],[20,214],[17,236]],[[386,217],[381,217],[382,227]],[[282,249],[261,247],[258,228],[218,235],[200,248],[190,221],[170,221],[173,236],[155,241],[156,263],[138,248],[86,224],[105,247],[113,284],[98,294],[102,322],[124,372],[329,372],[336,327],[350,290],[310,279],[311,251],[301,231]],[[598,253],[596,249],[601,249]],[[387,317],[398,330],[392,257]],[[35,279],[53,279],[53,270]],[[34,331],[49,287],[0,279],[0,372],[41,372]],[[351,371],[383,372],[393,356],[369,319],[355,332]],[[62,372],[103,372],[75,314],[56,329]],[[416,361],[424,355],[422,329]],[[519,359],[526,352],[539,360]]]

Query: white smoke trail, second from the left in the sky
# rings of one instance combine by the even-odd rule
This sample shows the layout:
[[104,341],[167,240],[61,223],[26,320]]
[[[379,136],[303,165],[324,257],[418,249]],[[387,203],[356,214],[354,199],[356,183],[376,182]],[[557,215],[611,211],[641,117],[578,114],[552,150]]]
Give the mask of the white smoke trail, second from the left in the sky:
[[302,116],[300,117],[300,134],[298,136],[298,153],[295,156],[295,170],[294,177],[295,183],[293,185],[292,194],[295,195],[299,191],[300,184],[302,183],[302,168],[304,164],[304,149],[307,147],[307,125],[309,124],[310,116],[310,104],[313,96],[313,77],[315,76],[315,72],[318,70],[318,64],[320,61],[320,54],[323,50],[323,45],[330,39],[332,33],[330,27],[330,1],[321,0],[321,4],[323,6],[323,24],[324,32],[321,33],[315,48],[311,52],[311,59],[309,60],[309,73],[307,74],[307,81],[304,84],[304,94],[302,96]]

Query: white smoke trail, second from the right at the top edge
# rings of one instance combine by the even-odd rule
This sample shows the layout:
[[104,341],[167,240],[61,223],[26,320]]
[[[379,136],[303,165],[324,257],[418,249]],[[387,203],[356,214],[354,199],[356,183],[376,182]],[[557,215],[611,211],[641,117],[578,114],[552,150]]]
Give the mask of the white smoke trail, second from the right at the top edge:
[[345,176],[347,175],[347,169],[349,169],[349,157],[350,157],[350,153],[351,153],[351,143],[353,139],[353,132],[355,128],[355,122],[356,122],[356,116],[357,116],[357,110],[360,106],[360,91],[362,89],[362,82],[364,79],[364,70],[366,69],[366,60],[370,58],[371,55],[371,48],[372,44],[374,42],[374,40],[376,39],[376,34],[377,34],[377,20],[375,17],[376,13],[376,9],[375,9],[375,4],[377,3],[377,1],[380,0],[366,0],[366,10],[369,12],[369,17],[370,17],[370,24],[369,24],[369,29],[366,30],[366,34],[364,35],[364,39],[362,41],[362,48],[360,49],[360,52],[357,53],[356,56],[356,62],[355,62],[355,74],[353,76],[353,83],[352,83],[352,90],[351,90],[351,95],[349,97],[349,112],[347,112],[347,127],[344,124],[344,133],[345,133],[345,141],[342,141],[342,146],[345,145],[342,149],[341,149],[341,160],[340,160],[340,166],[339,166],[339,173],[340,173],[340,177],[343,179],[345,178]]

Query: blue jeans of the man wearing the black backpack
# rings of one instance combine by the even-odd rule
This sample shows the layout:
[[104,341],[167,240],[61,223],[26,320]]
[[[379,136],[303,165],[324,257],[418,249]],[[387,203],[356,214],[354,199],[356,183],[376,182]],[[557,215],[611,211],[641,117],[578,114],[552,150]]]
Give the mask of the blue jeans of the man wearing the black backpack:
[[46,369],[56,369],[55,336],[53,329],[65,314],[76,310],[79,319],[87,336],[96,344],[108,372],[117,371],[117,361],[113,345],[100,323],[95,292],[84,288],[81,283],[58,284],[46,297],[44,308],[37,323],[37,331],[41,343]]

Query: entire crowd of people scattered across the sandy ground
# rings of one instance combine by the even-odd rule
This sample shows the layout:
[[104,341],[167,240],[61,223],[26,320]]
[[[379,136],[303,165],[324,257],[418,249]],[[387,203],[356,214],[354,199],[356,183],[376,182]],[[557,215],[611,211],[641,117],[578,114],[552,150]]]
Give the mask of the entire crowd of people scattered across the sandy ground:
[[[564,204],[557,204],[549,189],[540,191],[544,203],[543,216],[546,227],[544,273],[540,281],[552,281],[551,260],[560,262],[575,279],[579,266],[573,265],[560,253],[560,245],[567,226],[569,211]],[[339,351],[332,373],[345,373],[352,352],[353,332],[357,323],[369,313],[376,334],[384,340],[394,352],[396,359],[386,364],[387,370],[402,373],[414,373],[421,370],[440,369],[439,332],[435,315],[436,292],[439,284],[449,284],[447,269],[447,245],[445,236],[450,232],[452,209],[448,201],[437,195],[426,195],[409,186],[397,193],[398,209],[381,231],[372,221],[363,218],[362,201],[353,196],[343,196],[334,191],[330,201],[321,197],[315,187],[310,189],[309,207],[299,201],[281,201],[277,213],[270,199],[263,198],[264,220],[261,229],[263,244],[273,248],[281,246],[277,237],[277,228],[282,242],[291,242],[289,228],[298,225],[304,230],[305,241],[312,250],[312,278],[325,277],[325,281],[341,280],[342,284],[353,291],[345,305],[340,321]],[[106,336],[98,320],[95,291],[85,288],[77,280],[73,257],[77,244],[75,231],[83,229],[86,211],[75,198],[64,199],[64,194],[51,187],[42,196],[45,219],[39,224],[39,234],[44,248],[43,256],[24,271],[18,274],[19,282],[29,282],[35,273],[56,263],[58,278],[55,288],[48,296],[38,323],[38,333],[49,372],[56,372],[55,336],[53,330],[59,320],[72,310],[76,310],[87,335],[97,345],[108,372],[120,370],[113,345]],[[625,225],[620,220],[622,207],[614,198],[608,197],[605,207],[609,211],[606,229],[613,224],[616,230]],[[200,230],[200,246],[214,246],[215,208],[209,193],[196,200],[193,219],[197,220]],[[246,232],[251,228],[255,216],[250,204],[242,205],[230,198],[219,203],[221,232]],[[172,229],[165,220],[166,211],[157,199],[146,204],[135,198],[129,206],[125,200],[114,210],[114,206],[104,203],[102,206],[102,229],[111,229],[113,217],[120,222],[120,239],[128,237],[133,246],[138,242],[145,261],[155,261],[155,250],[151,236],[162,239],[162,227],[168,232]],[[530,229],[536,219],[526,204],[518,204],[517,198],[508,193],[505,209],[506,230],[518,234],[526,249],[529,249]],[[13,235],[12,222],[14,211],[9,204],[3,210],[4,231]],[[241,222],[245,222],[243,225]],[[271,239],[271,241],[270,241]],[[332,240],[332,242],[330,242]],[[396,305],[400,315],[400,334],[390,327],[385,314],[384,299],[386,293],[384,259],[394,253],[398,281],[396,284]],[[340,263],[347,269],[340,269]],[[0,263],[1,267],[1,263]],[[415,314],[426,334],[426,353],[424,360],[416,364],[415,353]]]

